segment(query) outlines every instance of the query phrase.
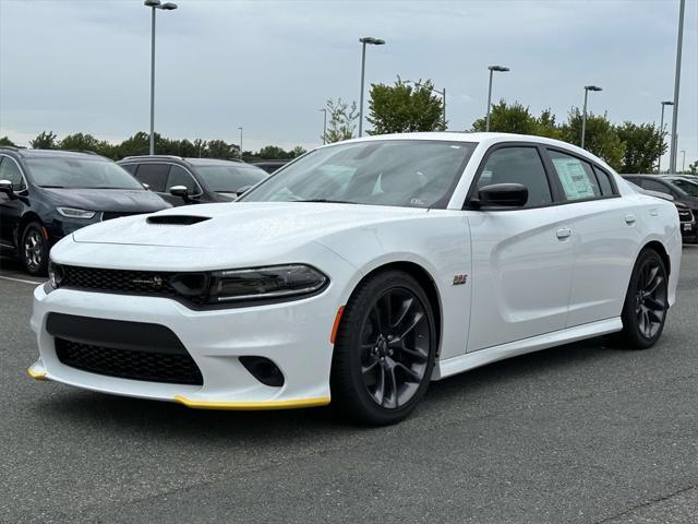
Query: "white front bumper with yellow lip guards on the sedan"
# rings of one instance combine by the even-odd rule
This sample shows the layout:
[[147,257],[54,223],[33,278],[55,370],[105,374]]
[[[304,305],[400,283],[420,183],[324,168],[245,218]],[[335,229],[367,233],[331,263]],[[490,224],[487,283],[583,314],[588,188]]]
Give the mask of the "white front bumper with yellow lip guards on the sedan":
[[[32,329],[40,358],[27,372],[87,390],[179,402],[190,407],[264,409],[329,403],[329,341],[341,298],[330,283],[317,296],[284,303],[194,311],[160,297],[57,289],[34,291]],[[87,372],[61,362],[47,331],[51,312],[159,324],[171,330],[203,376],[203,385],[146,382]],[[284,385],[261,383],[240,362],[261,356],[284,373]]]

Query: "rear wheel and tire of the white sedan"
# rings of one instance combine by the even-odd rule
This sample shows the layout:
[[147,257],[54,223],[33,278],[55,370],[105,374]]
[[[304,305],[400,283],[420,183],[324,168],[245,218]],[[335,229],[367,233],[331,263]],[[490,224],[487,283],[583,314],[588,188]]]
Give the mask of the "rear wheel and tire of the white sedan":
[[621,342],[631,349],[652,347],[664,330],[669,311],[669,276],[653,249],[640,252],[623,306]]

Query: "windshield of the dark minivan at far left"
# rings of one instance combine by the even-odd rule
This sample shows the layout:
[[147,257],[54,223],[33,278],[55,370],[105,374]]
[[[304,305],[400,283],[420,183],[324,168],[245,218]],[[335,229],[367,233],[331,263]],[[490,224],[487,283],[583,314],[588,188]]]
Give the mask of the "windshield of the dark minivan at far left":
[[34,183],[43,188],[142,189],[117,164],[104,158],[27,158]]

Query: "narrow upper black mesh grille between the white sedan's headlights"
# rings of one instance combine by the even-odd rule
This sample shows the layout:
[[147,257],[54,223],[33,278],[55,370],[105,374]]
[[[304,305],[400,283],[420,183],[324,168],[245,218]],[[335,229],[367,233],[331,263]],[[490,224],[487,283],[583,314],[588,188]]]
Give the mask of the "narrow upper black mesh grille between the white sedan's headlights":
[[61,265],[61,287],[136,295],[178,296],[170,285],[174,273],[161,271],[103,270]]

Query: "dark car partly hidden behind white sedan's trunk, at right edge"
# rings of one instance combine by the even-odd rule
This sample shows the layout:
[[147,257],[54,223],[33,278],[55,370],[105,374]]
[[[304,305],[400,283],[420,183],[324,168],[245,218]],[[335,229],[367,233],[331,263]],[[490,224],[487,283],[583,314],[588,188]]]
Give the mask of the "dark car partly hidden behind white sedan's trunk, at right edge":
[[678,210],[684,240],[698,242],[698,181],[679,175],[622,176],[647,191],[673,198]]

